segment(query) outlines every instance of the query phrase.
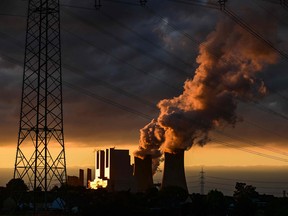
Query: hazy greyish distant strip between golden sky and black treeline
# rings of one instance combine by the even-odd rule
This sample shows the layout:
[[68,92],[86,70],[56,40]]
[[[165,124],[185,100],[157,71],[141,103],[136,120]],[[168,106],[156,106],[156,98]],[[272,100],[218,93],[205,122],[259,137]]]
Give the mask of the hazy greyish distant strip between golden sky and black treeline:
[[[86,172],[87,167],[68,168],[68,175],[78,176],[79,168]],[[92,168],[93,167],[89,167]],[[186,179],[189,193],[200,193],[201,167],[186,167]],[[217,189],[225,195],[233,195],[236,182],[244,182],[256,187],[260,194],[283,196],[288,191],[288,166],[279,167],[204,167],[204,193]],[[94,176],[94,172],[92,173]],[[5,186],[13,176],[13,169],[0,168],[0,186]],[[156,173],[154,183],[161,183],[162,172]]]

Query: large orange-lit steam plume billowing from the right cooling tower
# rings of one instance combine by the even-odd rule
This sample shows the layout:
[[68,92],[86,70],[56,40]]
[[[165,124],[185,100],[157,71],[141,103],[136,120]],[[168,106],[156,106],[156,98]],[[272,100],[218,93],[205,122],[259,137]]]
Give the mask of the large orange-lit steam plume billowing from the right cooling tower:
[[[271,34],[271,29],[263,31]],[[273,50],[241,27],[220,22],[200,45],[199,67],[194,78],[186,80],[183,93],[158,103],[158,123],[165,129],[162,151],[204,145],[210,130],[234,125],[237,99],[250,101],[265,95],[266,87],[257,73],[276,61]]]

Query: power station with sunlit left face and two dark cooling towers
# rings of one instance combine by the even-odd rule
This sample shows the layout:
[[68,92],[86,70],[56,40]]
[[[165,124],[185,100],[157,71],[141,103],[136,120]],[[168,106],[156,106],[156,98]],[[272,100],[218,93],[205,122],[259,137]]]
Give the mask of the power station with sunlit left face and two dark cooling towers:
[[[161,189],[178,187],[188,192],[184,150],[178,150],[177,153],[165,152],[164,156]],[[90,182],[89,188],[146,192],[153,187],[151,155],[146,155],[144,158],[134,157],[134,164],[131,165],[129,150],[109,148],[95,151],[95,179]]]

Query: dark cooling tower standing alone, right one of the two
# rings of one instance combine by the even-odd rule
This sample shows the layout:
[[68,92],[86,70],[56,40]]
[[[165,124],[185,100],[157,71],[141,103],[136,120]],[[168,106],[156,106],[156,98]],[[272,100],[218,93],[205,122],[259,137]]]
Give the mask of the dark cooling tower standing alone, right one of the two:
[[161,187],[176,186],[188,191],[184,170],[184,150],[175,152],[164,153],[165,161]]

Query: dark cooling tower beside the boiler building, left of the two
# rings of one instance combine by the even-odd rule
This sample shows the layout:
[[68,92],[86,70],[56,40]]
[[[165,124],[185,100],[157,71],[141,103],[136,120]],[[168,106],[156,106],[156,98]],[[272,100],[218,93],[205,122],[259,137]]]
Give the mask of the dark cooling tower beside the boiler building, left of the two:
[[145,192],[153,187],[151,155],[145,156],[144,159],[134,157],[134,179],[138,192]]

